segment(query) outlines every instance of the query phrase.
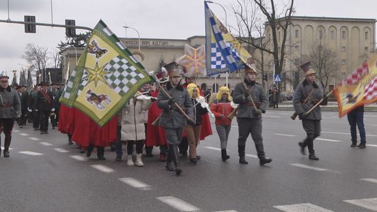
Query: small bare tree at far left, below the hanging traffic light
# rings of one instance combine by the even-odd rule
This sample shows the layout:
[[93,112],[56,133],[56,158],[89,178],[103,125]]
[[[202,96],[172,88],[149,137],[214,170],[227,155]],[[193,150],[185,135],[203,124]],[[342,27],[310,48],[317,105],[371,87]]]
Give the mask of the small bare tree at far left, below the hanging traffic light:
[[37,82],[40,82],[39,77],[50,61],[50,57],[47,53],[48,47],[40,47],[34,43],[28,43],[27,47],[25,48],[24,55],[22,56],[22,58],[26,59],[27,62],[30,63],[30,66],[34,66],[37,69]]

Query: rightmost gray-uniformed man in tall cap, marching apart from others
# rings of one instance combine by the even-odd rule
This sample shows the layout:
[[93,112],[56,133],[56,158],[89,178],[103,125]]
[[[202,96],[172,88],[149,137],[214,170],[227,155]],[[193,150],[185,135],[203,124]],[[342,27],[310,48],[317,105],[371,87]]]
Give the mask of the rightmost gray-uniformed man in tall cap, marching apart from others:
[[[316,71],[311,68],[310,62],[306,62],[300,67],[304,71],[305,79],[304,82],[299,84],[296,88],[295,96],[293,97],[293,106],[300,120],[302,120],[302,127],[306,132],[306,139],[298,144],[302,155],[306,155],[305,149],[307,146],[309,159],[319,160],[314,153],[313,140],[320,135],[320,120],[322,119],[320,107],[314,108],[309,114],[306,112],[323,98],[323,90],[315,82]],[[320,105],[327,105],[327,100],[323,100]]]

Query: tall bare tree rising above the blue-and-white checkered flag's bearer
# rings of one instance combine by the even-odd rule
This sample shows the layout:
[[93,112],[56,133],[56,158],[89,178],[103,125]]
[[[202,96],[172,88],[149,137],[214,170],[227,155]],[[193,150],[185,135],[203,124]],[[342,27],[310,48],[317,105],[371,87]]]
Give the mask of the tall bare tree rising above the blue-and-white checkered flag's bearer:
[[[272,54],[274,57],[275,73],[281,74],[283,61],[285,56],[286,38],[288,27],[290,26],[290,18],[293,13],[294,0],[286,0],[283,9],[278,12],[274,0],[236,0],[237,6],[234,6],[233,12],[237,19],[237,30],[240,37],[246,37],[244,42],[249,43],[262,52]],[[268,2],[268,3],[267,3]],[[278,14],[279,13],[279,14]],[[271,38],[268,36],[260,43],[258,39],[253,39],[258,34],[258,29],[264,29],[265,24],[269,25],[271,30]],[[279,43],[278,31],[281,29],[282,42]],[[257,32],[257,33],[256,33]],[[258,36],[261,36],[260,33]],[[265,37],[265,33],[262,34]],[[272,39],[272,40],[270,40]],[[273,50],[269,50],[267,42],[272,42]],[[279,47],[281,49],[279,50]]]

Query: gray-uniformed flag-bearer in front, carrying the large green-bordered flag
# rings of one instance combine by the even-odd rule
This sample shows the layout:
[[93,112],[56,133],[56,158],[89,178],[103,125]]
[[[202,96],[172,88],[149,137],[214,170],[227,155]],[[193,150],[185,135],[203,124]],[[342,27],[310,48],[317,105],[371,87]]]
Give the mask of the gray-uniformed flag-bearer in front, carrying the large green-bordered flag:
[[[175,103],[186,112],[190,119],[192,119],[193,116],[193,105],[191,104],[191,98],[188,91],[179,84],[181,76],[175,66],[175,62],[169,63],[163,66],[163,68],[168,70],[170,82],[166,85],[166,90],[172,98],[169,99],[165,96],[161,89],[158,92],[157,106],[163,109],[158,124],[165,128],[165,137],[169,144],[166,169],[169,171],[175,171],[175,174],[180,175],[182,173],[182,168],[178,162],[178,145],[182,139],[182,132],[186,126],[186,119],[179,112],[179,109],[175,107]],[[172,167],[172,162],[174,162],[175,168]]]

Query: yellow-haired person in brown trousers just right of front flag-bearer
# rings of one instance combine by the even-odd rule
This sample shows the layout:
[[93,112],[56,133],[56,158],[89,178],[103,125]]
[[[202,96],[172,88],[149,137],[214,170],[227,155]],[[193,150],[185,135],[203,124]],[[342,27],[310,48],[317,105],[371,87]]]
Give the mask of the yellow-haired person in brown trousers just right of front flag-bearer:
[[194,123],[188,123],[184,128],[184,132],[186,133],[188,139],[188,146],[190,146],[190,161],[191,163],[195,164],[198,162],[198,158],[196,155],[196,146],[198,146],[199,139],[200,139],[200,131],[202,130],[202,115],[207,114],[207,109],[201,106],[201,103],[198,101],[200,97],[200,91],[198,86],[194,83],[187,85],[187,91],[191,98],[191,103],[193,105],[193,121]]

